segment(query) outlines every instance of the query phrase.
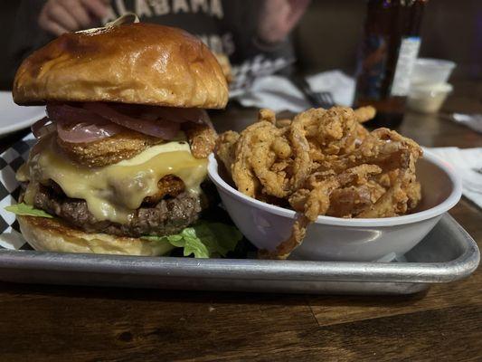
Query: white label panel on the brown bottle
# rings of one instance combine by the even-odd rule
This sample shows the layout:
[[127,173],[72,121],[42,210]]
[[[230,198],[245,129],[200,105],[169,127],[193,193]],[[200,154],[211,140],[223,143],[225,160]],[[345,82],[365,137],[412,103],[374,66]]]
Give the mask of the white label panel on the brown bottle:
[[406,96],[410,88],[411,70],[419,54],[421,47],[421,38],[411,36],[404,38],[400,45],[395,75],[393,76],[392,96]]

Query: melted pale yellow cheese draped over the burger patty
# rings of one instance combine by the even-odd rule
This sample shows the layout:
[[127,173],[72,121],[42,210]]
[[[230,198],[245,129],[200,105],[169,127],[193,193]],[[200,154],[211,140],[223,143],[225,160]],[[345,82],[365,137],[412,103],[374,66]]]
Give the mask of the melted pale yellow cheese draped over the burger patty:
[[143,200],[156,195],[157,183],[163,176],[178,176],[186,191],[199,193],[207,174],[207,159],[193,157],[186,142],[156,145],[107,167],[74,164],[56,147],[54,138],[41,142],[48,144],[31,155],[27,169],[23,168],[17,177],[30,180],[28,188],[52,179],[65,195],[85,200],[98,220],[127,224]]

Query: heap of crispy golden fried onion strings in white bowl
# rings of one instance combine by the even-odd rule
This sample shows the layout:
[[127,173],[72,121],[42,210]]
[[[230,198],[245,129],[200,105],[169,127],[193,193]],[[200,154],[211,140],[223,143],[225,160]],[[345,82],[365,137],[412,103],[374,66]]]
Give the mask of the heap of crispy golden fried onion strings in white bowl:
[[421,148],[390,129],[369,132],[360,123],[374,114],[372,107],[334,107],[279,121],[260,110],[241,134],[222,134],[216,152],[238,189],[264,202],[288,202],[299,213],[288,239],[260,257],[287,258],[318,215],[387,217],[418,205]]

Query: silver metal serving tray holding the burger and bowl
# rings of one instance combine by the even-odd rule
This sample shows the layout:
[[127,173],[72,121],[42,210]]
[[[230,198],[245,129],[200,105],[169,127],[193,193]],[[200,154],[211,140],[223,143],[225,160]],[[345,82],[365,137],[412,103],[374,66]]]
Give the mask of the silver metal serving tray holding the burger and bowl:
[[475,271],[477,244],[451,217],[406,262],[300,262],[0,251],[0,280],[133,288],[410,294]]

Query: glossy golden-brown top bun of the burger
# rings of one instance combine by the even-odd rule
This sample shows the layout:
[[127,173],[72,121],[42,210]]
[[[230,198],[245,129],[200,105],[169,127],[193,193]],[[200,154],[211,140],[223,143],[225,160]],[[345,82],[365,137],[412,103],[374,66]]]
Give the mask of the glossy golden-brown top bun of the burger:
[[224,108],[221,66],[200,40],[157,24],[65,33],[24,60],[14,79],[20,105],[113,101]]

